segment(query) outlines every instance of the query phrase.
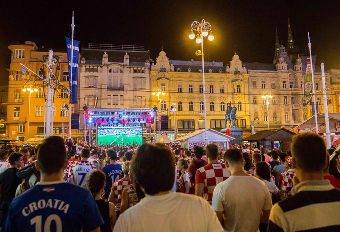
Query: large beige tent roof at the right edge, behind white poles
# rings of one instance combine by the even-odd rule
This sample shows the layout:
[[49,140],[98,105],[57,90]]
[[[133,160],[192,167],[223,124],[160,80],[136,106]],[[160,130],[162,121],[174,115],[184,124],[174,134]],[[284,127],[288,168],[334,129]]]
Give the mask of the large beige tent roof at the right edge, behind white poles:
[[[328,113],[330,133],[340,133],[340,113]],[[318,133],[326,132],[324,113],[317,114]],[[294,132],[315,132],[315,115],[293,129]]]

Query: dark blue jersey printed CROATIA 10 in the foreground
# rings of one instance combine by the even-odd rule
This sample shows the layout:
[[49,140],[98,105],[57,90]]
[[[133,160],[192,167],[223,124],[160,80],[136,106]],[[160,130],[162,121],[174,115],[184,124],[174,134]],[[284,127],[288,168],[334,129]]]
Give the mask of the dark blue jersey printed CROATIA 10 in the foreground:
[[91,231],[103,223],[89,190],[55,181],[14,198],[2,231]]

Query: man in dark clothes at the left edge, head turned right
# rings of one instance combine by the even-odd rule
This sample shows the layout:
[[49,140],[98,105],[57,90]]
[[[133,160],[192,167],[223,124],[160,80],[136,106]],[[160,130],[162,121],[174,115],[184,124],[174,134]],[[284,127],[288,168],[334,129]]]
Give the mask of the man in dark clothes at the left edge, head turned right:
[[11,153],[8,158],[10,167],[0,175],[0,204],[2,212],[1,224],[3,224],[7,216],[8,207],[15,197],[16,188],[22,181],[16,176],[17,171],[23,164],[22,156],[23,155],[20,153]]

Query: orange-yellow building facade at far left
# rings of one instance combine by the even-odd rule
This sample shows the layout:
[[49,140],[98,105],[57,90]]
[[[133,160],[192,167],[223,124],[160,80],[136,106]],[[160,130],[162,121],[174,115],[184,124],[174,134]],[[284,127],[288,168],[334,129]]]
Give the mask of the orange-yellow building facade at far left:
[[[47,87],[43,87],[42,81],[34,78],[28,70],[26,75],[22,74],[22,66],[44,76],[45,72],[40,70],[43,66],[43,60],[48,57],[48,51],[44,47],[38,48],[34,42],[15,42],[8,46],[12,52],[9,67],[9,86],[8,101],[2,103],[7,107],[7,117],[2,123],[6,124],[6,135],[18,140],[27,140],[32,137],[43,137],[44,130],[44,102]],[[60,70],[58,70],[58,80],[65,86],[69,86],[69,74],[67,64],[66,49],[54,50],[53,56],[58,59]],[[23,91],[26,87],[38,89],[37,92]],[[29,97],[30,95],[30,97]],[[29,107],[30,98],[30,107]],[[57,89],[54,94],[54,135],[65,134],[68,127],[68,111],[61,110],[63,104],[69,105],[68,92],[64,89]],[[30,116],[29,115],[30,112]],[[28,117],[29,117],[29,134],[28,134]],[[62,131],[62,124],[65,128]]]

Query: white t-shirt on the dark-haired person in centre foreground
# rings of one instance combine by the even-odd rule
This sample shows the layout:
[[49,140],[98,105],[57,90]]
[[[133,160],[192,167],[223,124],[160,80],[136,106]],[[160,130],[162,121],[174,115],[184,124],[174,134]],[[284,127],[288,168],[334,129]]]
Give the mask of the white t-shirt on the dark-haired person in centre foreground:
[[[198,215],[199,216],[192,216]],[[223,231],[216,213],[202,197],[169,192],[146,196],[120,214],[113,232]]]

